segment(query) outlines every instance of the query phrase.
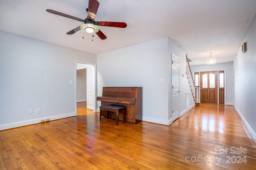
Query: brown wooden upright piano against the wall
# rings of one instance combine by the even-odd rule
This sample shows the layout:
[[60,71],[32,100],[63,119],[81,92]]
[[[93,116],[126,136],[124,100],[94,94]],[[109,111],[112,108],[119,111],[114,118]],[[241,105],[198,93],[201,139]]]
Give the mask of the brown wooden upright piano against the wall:
[[[102,96],[97,97],[101,105],[126,107],[126,122],[138,123],[142,119],[142,87],[103,87]],[[106,113],[102,113],[106,117]],[[115,116],[115,114],[113,114]],[[113,118],[110,113],[110,118]],[[122,114],[118,119],[123,121]]]

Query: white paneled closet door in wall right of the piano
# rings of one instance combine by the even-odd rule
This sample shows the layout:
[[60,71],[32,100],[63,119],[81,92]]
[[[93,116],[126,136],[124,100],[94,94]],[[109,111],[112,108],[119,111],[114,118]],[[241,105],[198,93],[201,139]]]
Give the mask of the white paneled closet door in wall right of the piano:
[[179,116],[179,59],[172,54],[172,121]]

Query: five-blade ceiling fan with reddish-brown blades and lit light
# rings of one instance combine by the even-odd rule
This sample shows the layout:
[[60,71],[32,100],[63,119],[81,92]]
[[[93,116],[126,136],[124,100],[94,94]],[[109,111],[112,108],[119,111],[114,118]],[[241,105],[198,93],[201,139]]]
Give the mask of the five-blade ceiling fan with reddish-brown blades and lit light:
[[107,37],[105,36],[105,34],[103,34],[103,32],[100,31],[98,26],[126,28],[127,24],[125,22],[95,21],[94,18],[96,17],[96,13],[98,11],[99,6],[100,6],[100,3],[97,0],[89,0],[89,6],[86,9],[88,14],[87,14],[87,18],[85,18],[84,20],[80,18],[76,18],[74,16],[67,15],[67,14],[63,14],[61,12],[57,12],[54,10],[47,9],[46,11],[52,14],[56,14],[59,16],[64,16],[66,18],[84,22],[84,24],[82,24],[81,26],[71,30],[70,32],[67,32],[68,35],[74,34],[79,30],[82,30],[87,33],[96,33],[100,37],[100,39],[105,40]]

